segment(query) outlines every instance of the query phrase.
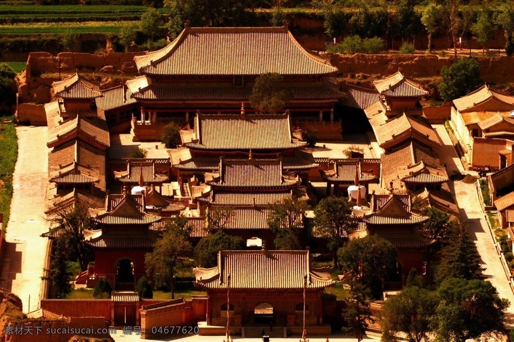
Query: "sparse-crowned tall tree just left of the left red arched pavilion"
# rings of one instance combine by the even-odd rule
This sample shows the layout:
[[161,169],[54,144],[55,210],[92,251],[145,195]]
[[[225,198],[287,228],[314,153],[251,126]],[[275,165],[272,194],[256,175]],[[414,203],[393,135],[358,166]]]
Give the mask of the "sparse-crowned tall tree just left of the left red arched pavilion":
[[96,229],[95,222],[89,217],[88,207],[98,206],[97,203],[77,203],[72,208],[58,208],[56,214],[49,218],[51,230],[58,232],[58,239],[78,260],[81,271],[85,271],[89,260],[93,259],[93,250],[84,239],[84,231]]

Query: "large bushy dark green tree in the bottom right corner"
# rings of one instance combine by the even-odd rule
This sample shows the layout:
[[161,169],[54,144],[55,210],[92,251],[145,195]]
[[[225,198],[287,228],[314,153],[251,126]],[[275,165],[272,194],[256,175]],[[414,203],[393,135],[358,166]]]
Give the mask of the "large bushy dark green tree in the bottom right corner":
[[437,292],[438,339],[464,342],[503,331],[509,301],[500,298],[489,281],[447,278]]

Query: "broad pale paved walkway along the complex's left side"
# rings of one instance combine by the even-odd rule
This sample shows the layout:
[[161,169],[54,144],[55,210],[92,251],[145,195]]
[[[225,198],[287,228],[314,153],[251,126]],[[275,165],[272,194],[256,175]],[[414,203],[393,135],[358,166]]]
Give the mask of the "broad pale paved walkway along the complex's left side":
[[48,186],[47,127],[17,127],[16,134],[18,160],[0,286],[19,296],[23,311],[30,312],[40,305],[48,245],[48,239],[40,237],[48,231],[44,218]]

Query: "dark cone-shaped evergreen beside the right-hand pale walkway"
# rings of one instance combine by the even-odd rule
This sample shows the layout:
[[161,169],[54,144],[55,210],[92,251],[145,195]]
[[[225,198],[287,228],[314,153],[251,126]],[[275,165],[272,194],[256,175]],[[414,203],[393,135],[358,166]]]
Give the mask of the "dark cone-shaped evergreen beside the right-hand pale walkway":
[[437,281],[442,282],[449,277],[467,280],[480,278],[483,270],[480,255],[465,227],[454,224],[447,241],[448,244],[441,251],[443,257],[437,270]]

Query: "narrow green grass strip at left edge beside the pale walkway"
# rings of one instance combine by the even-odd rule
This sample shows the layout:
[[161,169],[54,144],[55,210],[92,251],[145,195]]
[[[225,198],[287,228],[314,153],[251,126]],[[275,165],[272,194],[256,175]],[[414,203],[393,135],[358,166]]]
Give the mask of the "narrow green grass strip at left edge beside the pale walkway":
[[18,140],[14,124],[0,123],[0,213],[4,213],[4,229],[9,221],[12,199],[12,173],[14,172],[17,156]]

